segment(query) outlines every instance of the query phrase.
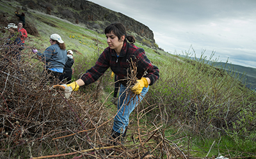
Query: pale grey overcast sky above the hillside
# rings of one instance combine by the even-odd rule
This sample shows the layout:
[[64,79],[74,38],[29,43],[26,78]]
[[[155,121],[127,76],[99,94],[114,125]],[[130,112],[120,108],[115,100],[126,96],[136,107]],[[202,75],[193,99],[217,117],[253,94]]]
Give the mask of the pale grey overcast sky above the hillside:
[[[196,57],[256,68],[256,0],[91,0],[148,26],[171,54],[192,46]],[[177,53],[175,53],[177,52]]]

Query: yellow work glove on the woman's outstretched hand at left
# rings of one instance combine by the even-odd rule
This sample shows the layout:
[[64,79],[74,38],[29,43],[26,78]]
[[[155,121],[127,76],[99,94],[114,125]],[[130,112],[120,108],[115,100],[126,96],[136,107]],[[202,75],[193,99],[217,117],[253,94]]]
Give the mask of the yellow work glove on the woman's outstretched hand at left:
[[60,89],[61,91],[65,91],[65,97],[69,98],[72,91],[78,91],[79,86],[77,82],[72,82],[71,84],[57,84],[52,86],[52,89]]

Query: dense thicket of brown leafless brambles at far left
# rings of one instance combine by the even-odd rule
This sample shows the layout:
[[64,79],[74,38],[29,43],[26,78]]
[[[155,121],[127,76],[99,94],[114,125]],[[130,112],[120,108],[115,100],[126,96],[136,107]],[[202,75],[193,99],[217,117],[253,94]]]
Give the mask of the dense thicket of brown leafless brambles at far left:
[[[30,54],[28,44],[22,50],[20,59],[15,57],[18,45],[6,45],[8,33],[0,40],[0,81],[1,100],[0,132],[1,158],[32,158],[52,155],[57,151],[70,152],[66,146],[72,145],[90,149],[88,140],[94,140],[92,132],[80,132],[76,137],[63,137],[81,130],[93,130],[100,124],[97,133],[104,138],[110,132],[106,109],[99,102],[92,102],[97,93],[72,93],[73,98],[63,98],[63,92],[51,90],[51,84],[42,82],[43,63]],[[28,50],[29,49],[29,50]],[[89,61],[89,60],[88,60]],[[78,96],[78,97],[77,97]],[[77,97],[77,98],[76,98]],[[81,98],[83,97],[83,98]],[[100,108],[101,107],[101,108]],[[95,114],[96,113],[96,114]],[[102,117],[100,117],[102,116]],[[107,122],[106,122],[107,121]],[[94,123],[95,122],[95,123]],[[103,124],[104,123],[104,124]],[[99,130],[101,129],[101,130]],[[97,135],[98,136],[98,135]],[[52,140],[52,138],[63,139]],[[65,144],[63,144],[65,143]],[[77,146],[75,146],[77,145]]]

